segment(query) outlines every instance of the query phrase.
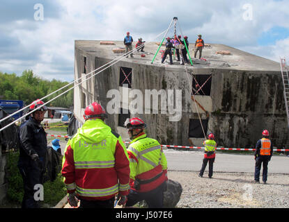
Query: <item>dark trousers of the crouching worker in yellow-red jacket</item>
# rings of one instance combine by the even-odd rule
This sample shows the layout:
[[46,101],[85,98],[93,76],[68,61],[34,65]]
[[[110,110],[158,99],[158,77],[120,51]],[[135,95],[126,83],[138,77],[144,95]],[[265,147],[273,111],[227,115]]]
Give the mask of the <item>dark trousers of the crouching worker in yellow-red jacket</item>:
[[166,188],[166,182],[159,185],[156,189],[148,192],[138,192],[130,189],[130,194],[127,196],[127,207],[131,207],[141,200],[146,200],[148,208],[162,208],[164,201],[164,190]]

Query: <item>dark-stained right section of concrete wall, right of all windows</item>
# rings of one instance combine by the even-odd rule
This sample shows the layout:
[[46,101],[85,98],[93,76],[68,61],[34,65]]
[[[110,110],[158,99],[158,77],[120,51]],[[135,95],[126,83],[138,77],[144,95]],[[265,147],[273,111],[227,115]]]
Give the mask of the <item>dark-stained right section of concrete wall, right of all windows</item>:
[[212,100],[210,128],[220,146],[255,146],[264,129],[274,146],[289,145],[280,72],[216,69]]

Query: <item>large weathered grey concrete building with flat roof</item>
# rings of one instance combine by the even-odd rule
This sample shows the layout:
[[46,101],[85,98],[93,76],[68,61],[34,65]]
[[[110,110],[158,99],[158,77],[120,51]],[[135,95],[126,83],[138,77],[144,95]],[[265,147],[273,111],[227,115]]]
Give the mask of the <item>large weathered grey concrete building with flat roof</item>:
[[[120,114],[109,113],[107,123],[124,139],[125,119],[141,117],[147,123],[148,136],[161,144],[201,146],[204,133],[214,133],[218,146],[252,147],[266,128],[274,146],[289,145],[278,62],[226,45],[207,44],[203,49],[207,62],[201,62],[203,65],[184,66],[176,60],[173,65],[161,64],[164,46],[151,64],[158,44],[146,42],[146,57],[135,52],[134,58],[123,58],[90,78],[91,71],[121,56],[115,52],[123,48],[121,41],[75,41],[75,79],[89,78],[84,83],[78,80],[81,84],[75,87],[74,112],[79,121],[84,122],[84,109],[93,101],[111,110],[112,101],[119,99],[120,105],[113,108]],[[192,49],[189,46],[191,57]],[[120,98],[114,93],[116,90]],[[192,92],[197,92],[194,97]],[[143,107],[136,101],[143,101]],[[135,113],[136,108],[142,114]]]

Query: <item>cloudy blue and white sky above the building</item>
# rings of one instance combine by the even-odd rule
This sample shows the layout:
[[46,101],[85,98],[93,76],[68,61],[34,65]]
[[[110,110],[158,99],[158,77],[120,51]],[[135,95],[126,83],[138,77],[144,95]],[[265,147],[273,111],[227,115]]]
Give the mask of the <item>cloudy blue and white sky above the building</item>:
[[130,31],[160,41],[173,17],[189,42],[202,34],[206,43],[289,60],[288,8],[288,0],[1,0],[0,71],[72,81],[75,40],[123,40]]

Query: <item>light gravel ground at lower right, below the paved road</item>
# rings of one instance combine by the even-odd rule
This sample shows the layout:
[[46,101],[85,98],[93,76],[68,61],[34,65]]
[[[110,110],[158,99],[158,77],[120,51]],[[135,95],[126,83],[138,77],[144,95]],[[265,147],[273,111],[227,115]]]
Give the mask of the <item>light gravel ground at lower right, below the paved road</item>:
[[194,171],[169,171],[168,177],[182,185],[178,208],[289,207],[288,174],[268,173],[267,185],[253,184],[253,173],[214,173],[209,179],[208,171],[203,178]]

